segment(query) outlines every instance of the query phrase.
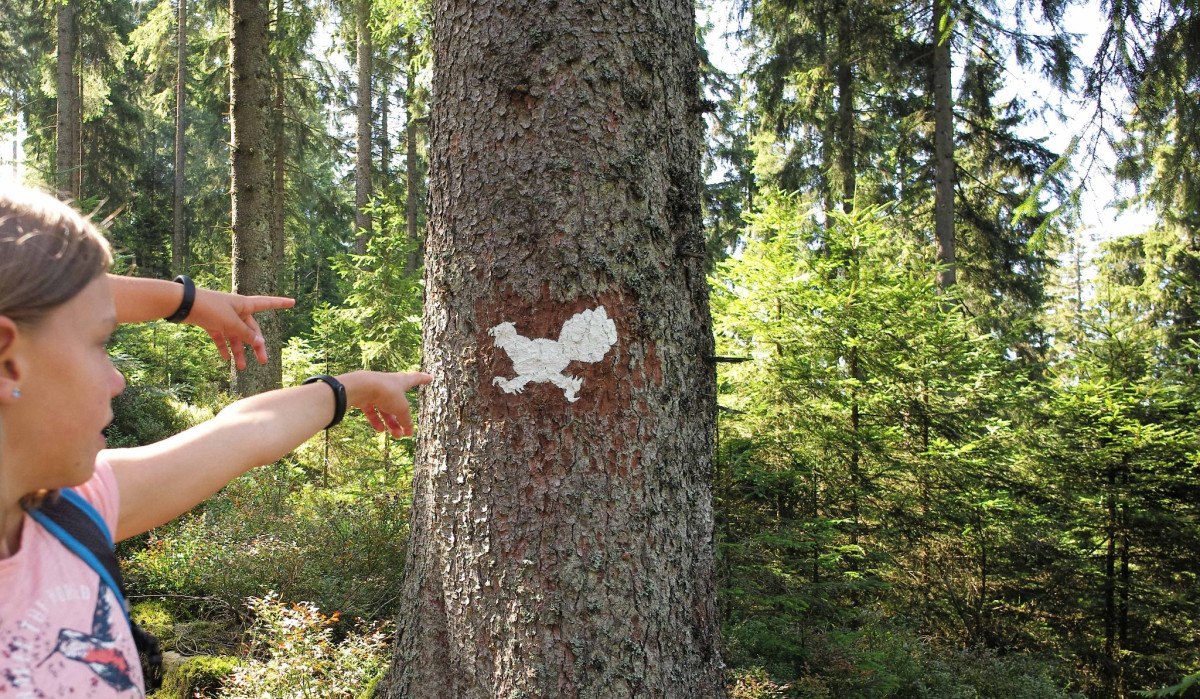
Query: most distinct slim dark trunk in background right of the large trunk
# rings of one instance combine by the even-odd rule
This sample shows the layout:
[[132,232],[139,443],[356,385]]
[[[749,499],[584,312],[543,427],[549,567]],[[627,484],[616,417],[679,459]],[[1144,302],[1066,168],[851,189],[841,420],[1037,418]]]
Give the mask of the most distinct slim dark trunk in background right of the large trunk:
[[934,44],[934,238],[937,288],[956,281],[954,241],[954,102],[950,94],[950,0],[932,0]]

